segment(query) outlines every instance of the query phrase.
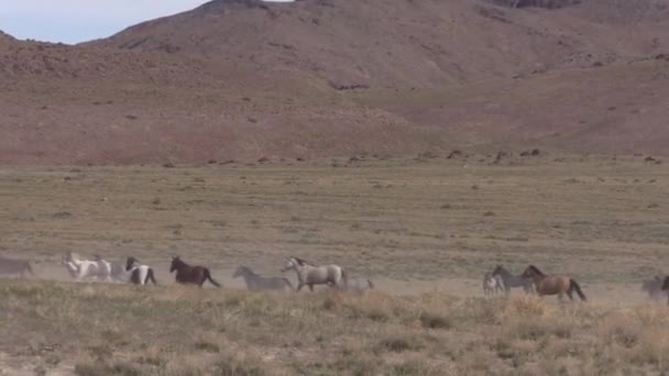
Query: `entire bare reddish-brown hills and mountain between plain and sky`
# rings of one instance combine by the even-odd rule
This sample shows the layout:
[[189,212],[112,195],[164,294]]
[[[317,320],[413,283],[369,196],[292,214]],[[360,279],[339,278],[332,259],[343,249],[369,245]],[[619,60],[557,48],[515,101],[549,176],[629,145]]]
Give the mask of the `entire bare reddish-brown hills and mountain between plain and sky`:
[[4,164],[665,153],[669,0],[219,0],[77,46],[0,34]]

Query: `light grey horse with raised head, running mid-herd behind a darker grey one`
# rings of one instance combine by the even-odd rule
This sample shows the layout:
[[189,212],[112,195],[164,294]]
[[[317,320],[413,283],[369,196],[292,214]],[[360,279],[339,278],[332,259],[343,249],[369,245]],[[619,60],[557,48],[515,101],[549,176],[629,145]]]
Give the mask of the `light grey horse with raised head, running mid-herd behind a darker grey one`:
[[346,288],[347,274],[341,266],[323,265],[316,266],[297,257],[288,257],[284,263],[282,273],[295,270],[297,273],[297,289],[299,291],[305,285],[314,291],[314,285],[329,285],[330,287]]

